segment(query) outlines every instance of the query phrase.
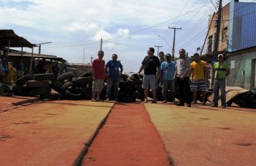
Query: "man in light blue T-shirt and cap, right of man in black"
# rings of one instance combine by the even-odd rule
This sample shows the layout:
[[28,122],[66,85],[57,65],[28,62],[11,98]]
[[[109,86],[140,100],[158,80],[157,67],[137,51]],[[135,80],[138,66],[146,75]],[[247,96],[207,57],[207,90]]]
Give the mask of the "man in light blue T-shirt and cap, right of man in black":
[[175,82],[174,82],[174,73],[175,73],[175,62],[172,62],[172,55],[167,53],[165,55],[166,61],[161,64],[161,78],[163,80],[163,103],[167,103],[167,93],[168,90],[172,96],[172,102],[175,102]]

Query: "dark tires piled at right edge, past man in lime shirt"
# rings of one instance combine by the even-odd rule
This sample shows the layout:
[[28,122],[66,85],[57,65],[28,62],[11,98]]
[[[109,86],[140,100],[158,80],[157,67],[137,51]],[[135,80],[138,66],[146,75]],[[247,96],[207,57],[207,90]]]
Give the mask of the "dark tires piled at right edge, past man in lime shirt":
[[232,103],[235,103],[240,107],[256,109],[256,88],[236,95],[235,98],[232,98],[232,100],[227,102],[228,106],[231,106]]

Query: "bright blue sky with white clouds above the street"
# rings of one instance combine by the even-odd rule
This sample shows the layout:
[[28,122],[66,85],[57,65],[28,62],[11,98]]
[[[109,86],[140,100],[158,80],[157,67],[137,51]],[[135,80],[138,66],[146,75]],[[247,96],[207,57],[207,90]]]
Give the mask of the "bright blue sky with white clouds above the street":
[[[223,0],[222,6],[230,1]],[[240,0],[254,2],[255,0]],[[0,29],[12,29],[41,53],[91,64],[116,53],[125,72],[138,71],[149,47],[179,57],[199,53],[217,0],[0,0]],[[175,43],[174,43],[174,28]],[[102,41],[102,42],[101,42]],[[44,44],[46,43],[46,44]],[[205,53],[205,45],[203,53]],[[21,50],[21,48],[15,48]],[[24,51],[32,52],[31,48]],[[34,48],[34,53],[39,48]]]

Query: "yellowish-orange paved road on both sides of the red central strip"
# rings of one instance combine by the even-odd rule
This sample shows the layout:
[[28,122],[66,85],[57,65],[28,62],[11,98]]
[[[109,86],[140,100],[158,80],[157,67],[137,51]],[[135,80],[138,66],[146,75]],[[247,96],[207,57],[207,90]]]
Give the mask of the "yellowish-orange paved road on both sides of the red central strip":
[[[3,165],[78,165],[114,104],[57,100],[14,107],[13,99],[0,101]],[[255,165],[255,109],[145,107],[174,165]]]

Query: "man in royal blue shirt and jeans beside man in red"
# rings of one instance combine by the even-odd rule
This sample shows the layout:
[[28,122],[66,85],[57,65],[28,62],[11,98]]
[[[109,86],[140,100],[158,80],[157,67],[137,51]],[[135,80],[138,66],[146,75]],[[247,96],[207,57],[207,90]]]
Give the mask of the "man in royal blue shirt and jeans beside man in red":
[[[112,59],[105,65],[105,73],[107,75],[107,100],[110,100],[111,90],[113,86],[113,100],[118,100],[118,87],[120,82],[120,76],[122,74],[122,64],[117,60],[118,55],[113,54]],[[119,71],[120,68],[120,71]]]

